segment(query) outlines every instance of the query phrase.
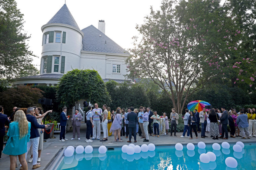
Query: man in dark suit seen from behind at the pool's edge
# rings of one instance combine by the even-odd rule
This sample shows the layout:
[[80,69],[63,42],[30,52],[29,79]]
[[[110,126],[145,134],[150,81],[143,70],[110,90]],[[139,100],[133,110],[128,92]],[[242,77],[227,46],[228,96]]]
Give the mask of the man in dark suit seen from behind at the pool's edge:
[[[134,113],[134,107],[130,107],[131,112],[127,114],[127,120],[129,121],[128,123],[128,128],[129,128],[129,140],[127,141],[128,143],[132,143],[131,138],[132,138],[132,131],[133,131],[133,136],[134,136],[134,143],[137,142],[136,140],[136,123],[137,123],[137,114]],[[128,129],[126,129],[128,130]]]

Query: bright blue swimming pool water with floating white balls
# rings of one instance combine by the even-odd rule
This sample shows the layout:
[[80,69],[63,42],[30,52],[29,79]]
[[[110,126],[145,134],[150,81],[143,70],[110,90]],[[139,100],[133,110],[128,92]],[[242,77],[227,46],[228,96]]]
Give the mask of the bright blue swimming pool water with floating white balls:
[[[194,151],[176,151],[174,146],[156,147],[155,151],[141,152],[139,154],[127,155],[122,153],[121,148],[107,151],[106,154],[99,154],[94,149],[92,154],[74,154],[72,157],[64,157],[57,170],[86,169],[86,170],[224,170],[228,168],[225,164],[227,157],[237,160],[237,170],[256,170],[256,144],[245,144],[241,153],[233,151],[233,145],[229,149],[214,151],[212,145],[206,145],[205,149],[199,149],[195,145]],[[208,164],[201,163],[200,153],[214,152],[216,161]],[[233,170],[235,170],[233,169]]]

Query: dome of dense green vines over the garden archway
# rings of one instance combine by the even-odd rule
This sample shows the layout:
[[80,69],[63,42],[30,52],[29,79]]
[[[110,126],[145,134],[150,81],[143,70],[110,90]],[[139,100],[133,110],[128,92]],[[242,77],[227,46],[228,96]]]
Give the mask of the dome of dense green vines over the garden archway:
[[111,98],[106,86],[96,70],[74,69],[64,74],[57,85],[59,107],[72,108],[78,100],[109,105]]

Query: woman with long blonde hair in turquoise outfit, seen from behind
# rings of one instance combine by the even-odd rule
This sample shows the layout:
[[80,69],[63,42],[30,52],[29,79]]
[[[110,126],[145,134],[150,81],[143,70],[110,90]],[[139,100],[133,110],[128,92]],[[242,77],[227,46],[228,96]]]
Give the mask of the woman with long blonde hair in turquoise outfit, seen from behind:
[[27,152],[27,142],[30,138],[31,123],[27,121],[26,115],[22,110],[15,112],[14,121],[9,124],[7,135],[9,139],[3,153],[10,156],[10,170],[15,169],[17,155],[23,167],[28,169],[25,154]]

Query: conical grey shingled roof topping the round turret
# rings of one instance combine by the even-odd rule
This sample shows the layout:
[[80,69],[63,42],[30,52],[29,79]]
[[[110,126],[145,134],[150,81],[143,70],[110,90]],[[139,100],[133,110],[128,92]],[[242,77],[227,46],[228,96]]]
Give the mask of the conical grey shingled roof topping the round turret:
[[[66,4],[64,4],[60,10],[50,19],[48,23],[63,23],[67,25],[71,25],[79,29],[77,23],[75,22],[75,19],[73,18],[72,14],[68,10],[68,7]],[[80,30],[80,29],[79,29]]]

